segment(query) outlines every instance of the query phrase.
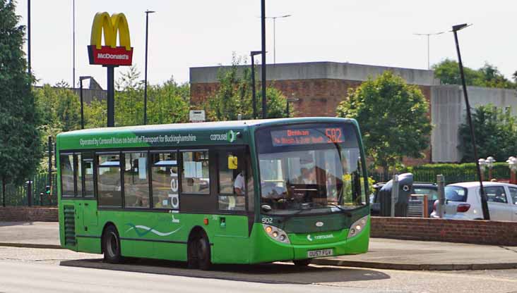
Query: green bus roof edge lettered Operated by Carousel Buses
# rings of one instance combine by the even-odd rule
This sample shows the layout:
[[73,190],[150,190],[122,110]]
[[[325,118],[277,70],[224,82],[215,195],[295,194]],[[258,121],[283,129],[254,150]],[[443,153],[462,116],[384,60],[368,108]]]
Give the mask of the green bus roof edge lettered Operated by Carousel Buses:
[[[136,125],[74,130],[57,135],[58,149],[105,149],[142,146],[243,144],[249,128],[290,123],[353,123],[354,119],[331,117],[233,120],[203,123]],[[239,135],[239,132],[241,135]]]

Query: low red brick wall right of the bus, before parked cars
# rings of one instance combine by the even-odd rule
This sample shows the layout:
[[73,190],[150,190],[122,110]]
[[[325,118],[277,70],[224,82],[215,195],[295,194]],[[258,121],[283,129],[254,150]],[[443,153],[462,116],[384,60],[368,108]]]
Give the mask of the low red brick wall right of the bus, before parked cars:
[[517,246],[517,222],[372,217],[372,237]]

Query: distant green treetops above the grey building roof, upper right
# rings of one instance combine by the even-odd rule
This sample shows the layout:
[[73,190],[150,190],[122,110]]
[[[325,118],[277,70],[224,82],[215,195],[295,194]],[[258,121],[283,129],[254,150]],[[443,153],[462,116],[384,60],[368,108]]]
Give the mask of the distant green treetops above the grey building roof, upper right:
[[[439,78],[443,85],[461,85],[460,69],[458,62],[451,59],[445,59],[440,63],[432,66],[434,76]],[[506,79],[497,67],[489,63],[485,63],[480,69],[472,69],[463,67],[465,73],[465,83],[467,85],[474,85],[477,87],[501,87],[506,89],[513,89],[516,85],[510,80]]]

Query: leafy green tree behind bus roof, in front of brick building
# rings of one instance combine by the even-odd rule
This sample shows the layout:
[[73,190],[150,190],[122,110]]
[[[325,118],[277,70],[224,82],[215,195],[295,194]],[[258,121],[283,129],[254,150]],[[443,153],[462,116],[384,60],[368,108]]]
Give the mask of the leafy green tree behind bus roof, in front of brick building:
[[[237,120],[239,114],[242,115],[242,119],[253,119],[251,68],[239,68],[242,63],[245,64],[243,58],[233,56],[232,66],[218,72],[218,91],[201,105],[206,110],[208,120]],[[261,118],[261,87],[259,82],[256,82],[256,85],[257,118]],[[266,88],[266,105],[266,118],[287,117],[287,99],[275,87]]]

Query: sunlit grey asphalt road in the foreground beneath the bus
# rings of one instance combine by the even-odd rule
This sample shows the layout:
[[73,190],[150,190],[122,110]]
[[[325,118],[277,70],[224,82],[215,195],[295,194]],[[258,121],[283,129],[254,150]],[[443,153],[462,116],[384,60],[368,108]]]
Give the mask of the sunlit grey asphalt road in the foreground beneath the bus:
[[517,270],[425,272],[290,263],[188,270],[182,263],[0,247],[0,292],[517,292]]

